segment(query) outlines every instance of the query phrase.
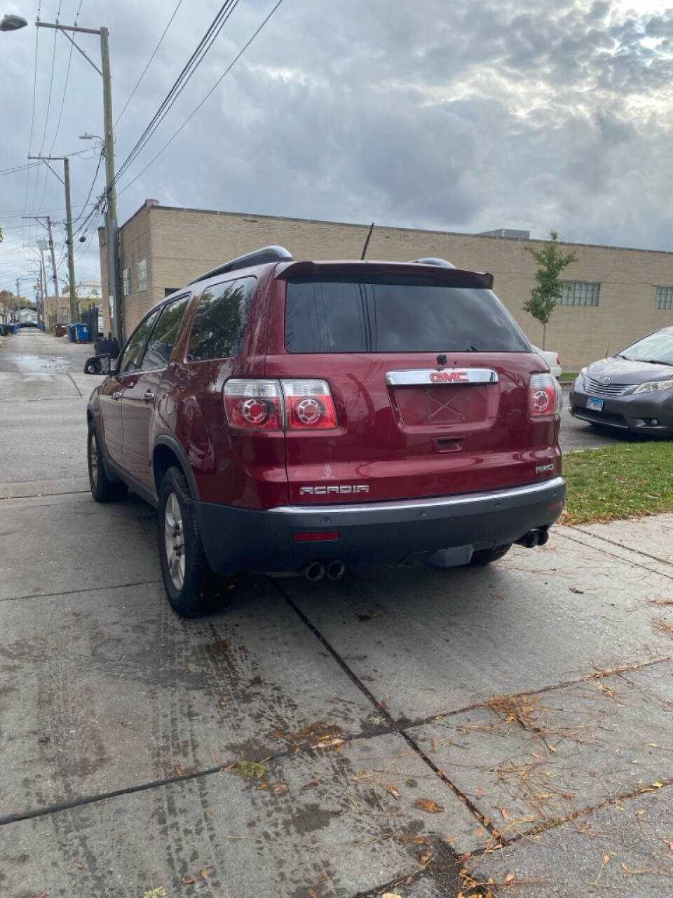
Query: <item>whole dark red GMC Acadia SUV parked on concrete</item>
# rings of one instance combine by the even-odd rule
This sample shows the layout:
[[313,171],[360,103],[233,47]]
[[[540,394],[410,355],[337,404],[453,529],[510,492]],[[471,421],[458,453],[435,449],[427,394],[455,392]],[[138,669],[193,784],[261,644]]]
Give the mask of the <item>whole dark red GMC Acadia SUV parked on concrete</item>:
[[267,247],[156,304],[87,409],[93,497],[157,507],[168,599],[218,576],[448,568],[547,539],[561,392],[491,290],[449,262]]

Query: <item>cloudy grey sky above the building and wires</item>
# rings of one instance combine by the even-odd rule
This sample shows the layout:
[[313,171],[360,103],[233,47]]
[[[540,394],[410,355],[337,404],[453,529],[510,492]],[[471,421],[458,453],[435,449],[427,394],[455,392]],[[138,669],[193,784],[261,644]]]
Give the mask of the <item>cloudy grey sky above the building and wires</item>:
[[[83,0],[79,24],[109,28],[116,116],[177,2]],[[120,222],[153,197],[468,233],[514,227],[544,237],[555,227],[564,240],[673,251],[673,6],[659,0],[284,0],[133,180],[274,4],[240,0],[119,179]],[[39,15],[54,22],[60,8],[60,21],[72,23],[79,5],[41,0]],[[118,167],[220,5],[180,4],[118,121]],[[0,33],[0,170],[25,163],[29,148],[62,155],[89,146],[71,162],[74,215],[86,215],[98,153],[78,136],[102,134],[101,78],[76,50],[70,58],[62,34],[40,29],[31,136],[37,10],[37,0],[4,0],[4,12],[30,24]],[[98,64],[98,39],[77,40]],[[92,201],[102,187],[101,167]],[[61,255],[64,205],[44,166],[0,176],[0,288],[36,267],[40,228],[22,225],[23,213],[53,216]],[[92,240],[77,243],[76,276],[100,277],[92,227],[85,235]],[[66,277],[65,259],[60,270]]]

